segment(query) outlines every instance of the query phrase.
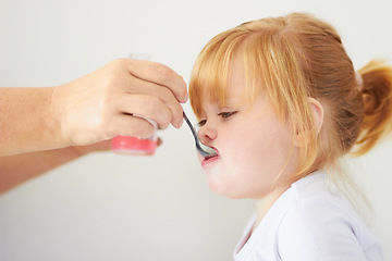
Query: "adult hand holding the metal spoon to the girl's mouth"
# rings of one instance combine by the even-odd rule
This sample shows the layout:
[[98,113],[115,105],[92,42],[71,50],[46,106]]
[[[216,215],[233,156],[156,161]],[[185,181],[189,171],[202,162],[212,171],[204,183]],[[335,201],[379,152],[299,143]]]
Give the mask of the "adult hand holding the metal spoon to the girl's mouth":
[[90,145],[114,136],[152,135],[154,127],[140,115],[180,127],[187,100],[183,78],[166,65],[118,59],[72,83],[57,86],[51,98],[53,119],[70,145]]

